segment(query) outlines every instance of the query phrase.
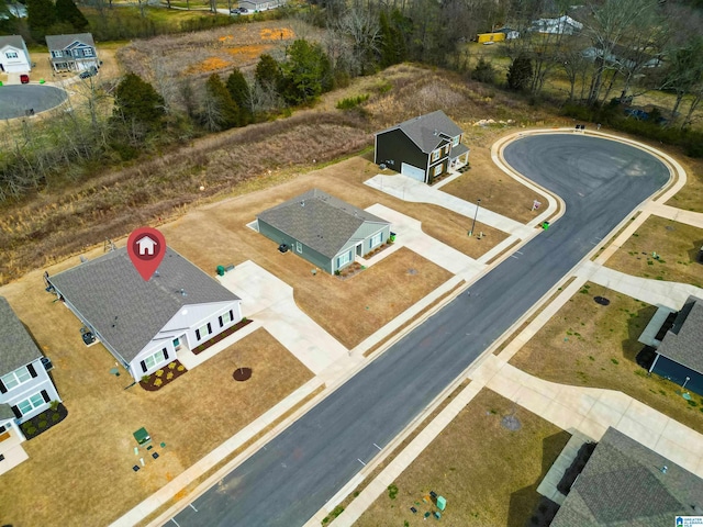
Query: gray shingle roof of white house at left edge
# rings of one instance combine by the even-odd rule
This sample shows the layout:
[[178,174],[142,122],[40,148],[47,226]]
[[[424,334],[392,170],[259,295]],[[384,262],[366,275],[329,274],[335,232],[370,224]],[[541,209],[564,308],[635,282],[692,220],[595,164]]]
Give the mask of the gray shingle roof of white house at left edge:
[[0,375],[42,357],[31,335],[14,314],[8,301],[0,296]]

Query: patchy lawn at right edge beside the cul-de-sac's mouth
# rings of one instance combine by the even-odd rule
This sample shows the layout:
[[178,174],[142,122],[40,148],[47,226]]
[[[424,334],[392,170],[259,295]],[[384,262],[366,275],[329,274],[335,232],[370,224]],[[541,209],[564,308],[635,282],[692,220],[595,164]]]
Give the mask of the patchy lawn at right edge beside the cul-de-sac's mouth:
[[[636,277],[703,287],[703,264],[696,261],[703,228],[649,216],[605,265]],[[659,258],[655,258],[657,253]]]

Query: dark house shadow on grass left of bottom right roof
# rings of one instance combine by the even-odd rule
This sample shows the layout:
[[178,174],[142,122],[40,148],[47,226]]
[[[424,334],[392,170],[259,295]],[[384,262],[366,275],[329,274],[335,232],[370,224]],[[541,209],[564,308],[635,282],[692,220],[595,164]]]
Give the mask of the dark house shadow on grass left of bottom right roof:
[[[547,475],[547,472],[549,472],[549,469],[559,457],[561,450],[563,450],[563,447],[566,447],[570,438],[571,435],[568,431],[562,430],[543,439],[542,471],[537,480],[532,485],[520,489],[511,494],[510,508],[507,512],[507,527],[549,525],[559,507],[550,500],[540,496],[537,493],[537,486],[539,486],[542,480]],[[533,520],[533,517],[537,519],[537,523]]]

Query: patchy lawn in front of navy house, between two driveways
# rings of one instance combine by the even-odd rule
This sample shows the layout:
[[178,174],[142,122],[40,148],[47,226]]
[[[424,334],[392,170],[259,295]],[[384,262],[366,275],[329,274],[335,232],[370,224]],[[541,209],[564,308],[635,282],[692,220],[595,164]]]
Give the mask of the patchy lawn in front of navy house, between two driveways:
[[[607,306],[593,296],[605,296]],[[695,406],[681,386],[647,377],[635,358],[637,341],[657,309],[601,285],[587,283],[510,361],[547,381],[617,390],[703,433],[703,397]],[[698,397],[696,397],[698,399]]]

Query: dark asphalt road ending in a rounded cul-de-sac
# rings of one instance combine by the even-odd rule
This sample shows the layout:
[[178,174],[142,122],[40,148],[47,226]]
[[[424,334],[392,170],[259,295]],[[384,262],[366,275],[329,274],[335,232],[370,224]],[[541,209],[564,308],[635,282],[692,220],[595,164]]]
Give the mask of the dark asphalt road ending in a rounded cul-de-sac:
[[521,138],[505,159],[559,194],[566,214],[196,500],[198,512],[186,508],[178,525],[303,525],[669,177],[641,150],[576,134]]

